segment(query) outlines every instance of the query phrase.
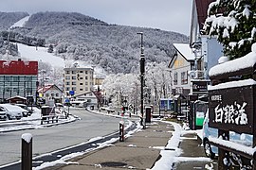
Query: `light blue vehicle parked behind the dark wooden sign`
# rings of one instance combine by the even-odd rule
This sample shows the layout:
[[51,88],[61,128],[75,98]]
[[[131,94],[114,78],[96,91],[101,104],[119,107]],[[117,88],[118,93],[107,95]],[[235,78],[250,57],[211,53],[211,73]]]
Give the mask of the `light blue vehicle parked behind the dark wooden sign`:
[[[207,157],[214,159],[218,155],[218,147],[210,145],[209,137],[218,138],[218,129],[209,127],[209,110],[206,112],[206,116],[203,123],[203,144],[204,150]],[[229,131],[229,141],[237,144],[245,144],[252,146],[252,135],[239,134],[233,131]]]

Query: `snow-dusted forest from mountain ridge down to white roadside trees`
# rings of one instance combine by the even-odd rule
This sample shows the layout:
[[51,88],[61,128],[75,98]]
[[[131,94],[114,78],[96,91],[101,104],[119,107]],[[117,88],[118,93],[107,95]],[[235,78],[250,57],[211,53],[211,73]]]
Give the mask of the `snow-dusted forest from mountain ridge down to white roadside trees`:
[[[0,17],[8,14],[0,13]],[[187,36],[155,28],[109,25],[98,19],[70,12],[39,12],[29,16],[23,26],[13,26],[22,17],[28,16],[27,13],[21,14],[16,20],[0,20],[0,25],[6,26],[1,28],[2,59],[7,56],[7,48],[9,59],[18,57],[16,42],[30,46],[46,45],[45,51],[52,55],[94,65],[97,70],[101,70],[97,75],[106,75],[103,90],[113,103],[119,105],[121,97],[127,96],[128,102],[138,107],[141,42],[137,32],[143,32],[146,59],[145,102],[157,104],[159,98],[170,96],[172,77],[166,68],[175,53],[173,43],[188,42]],[[54,76],[48,79],[61,86],[62,71],[52,69],[47,63],[40,61],[39,76],[41,70],[46,69],[46,76]]]

